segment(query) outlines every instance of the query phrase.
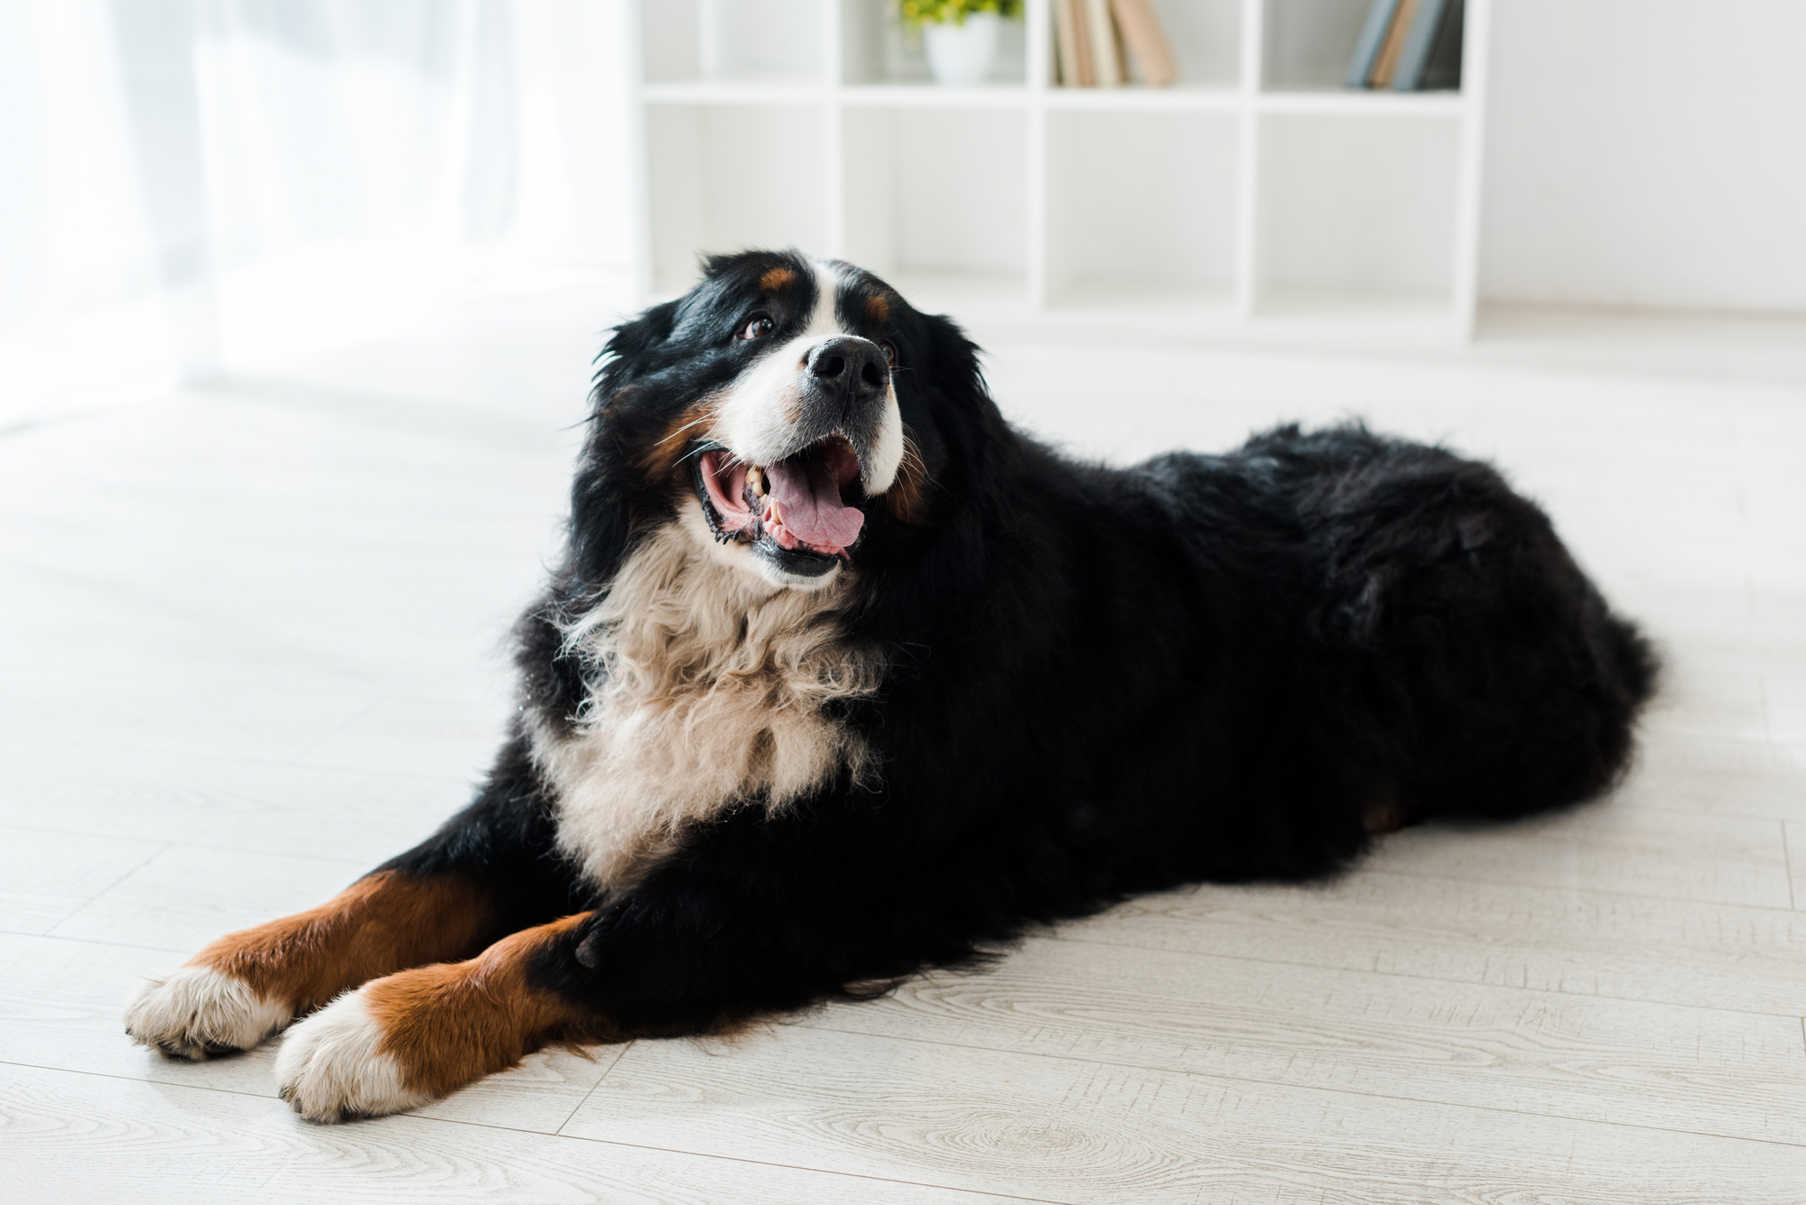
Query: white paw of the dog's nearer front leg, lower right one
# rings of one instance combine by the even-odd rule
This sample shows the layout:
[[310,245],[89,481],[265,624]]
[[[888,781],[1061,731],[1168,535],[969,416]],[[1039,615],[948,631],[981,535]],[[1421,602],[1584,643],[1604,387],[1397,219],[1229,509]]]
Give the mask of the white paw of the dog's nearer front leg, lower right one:
[[345,992],[282,1039],[282,1099],[311,1122],[383,1117],[432,1100],[432,1093],[403,1086],[401,1064],[377,1050],[381,1041],[363,990]]

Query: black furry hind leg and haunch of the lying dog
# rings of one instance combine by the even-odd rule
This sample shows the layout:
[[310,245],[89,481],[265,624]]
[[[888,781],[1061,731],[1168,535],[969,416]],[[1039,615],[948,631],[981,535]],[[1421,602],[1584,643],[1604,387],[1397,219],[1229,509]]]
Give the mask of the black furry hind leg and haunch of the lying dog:
[[1335,723],[1405,819],[1510,817],[1624,772],[1656,660],[1486,465],[1392,449],[1324,491]]

